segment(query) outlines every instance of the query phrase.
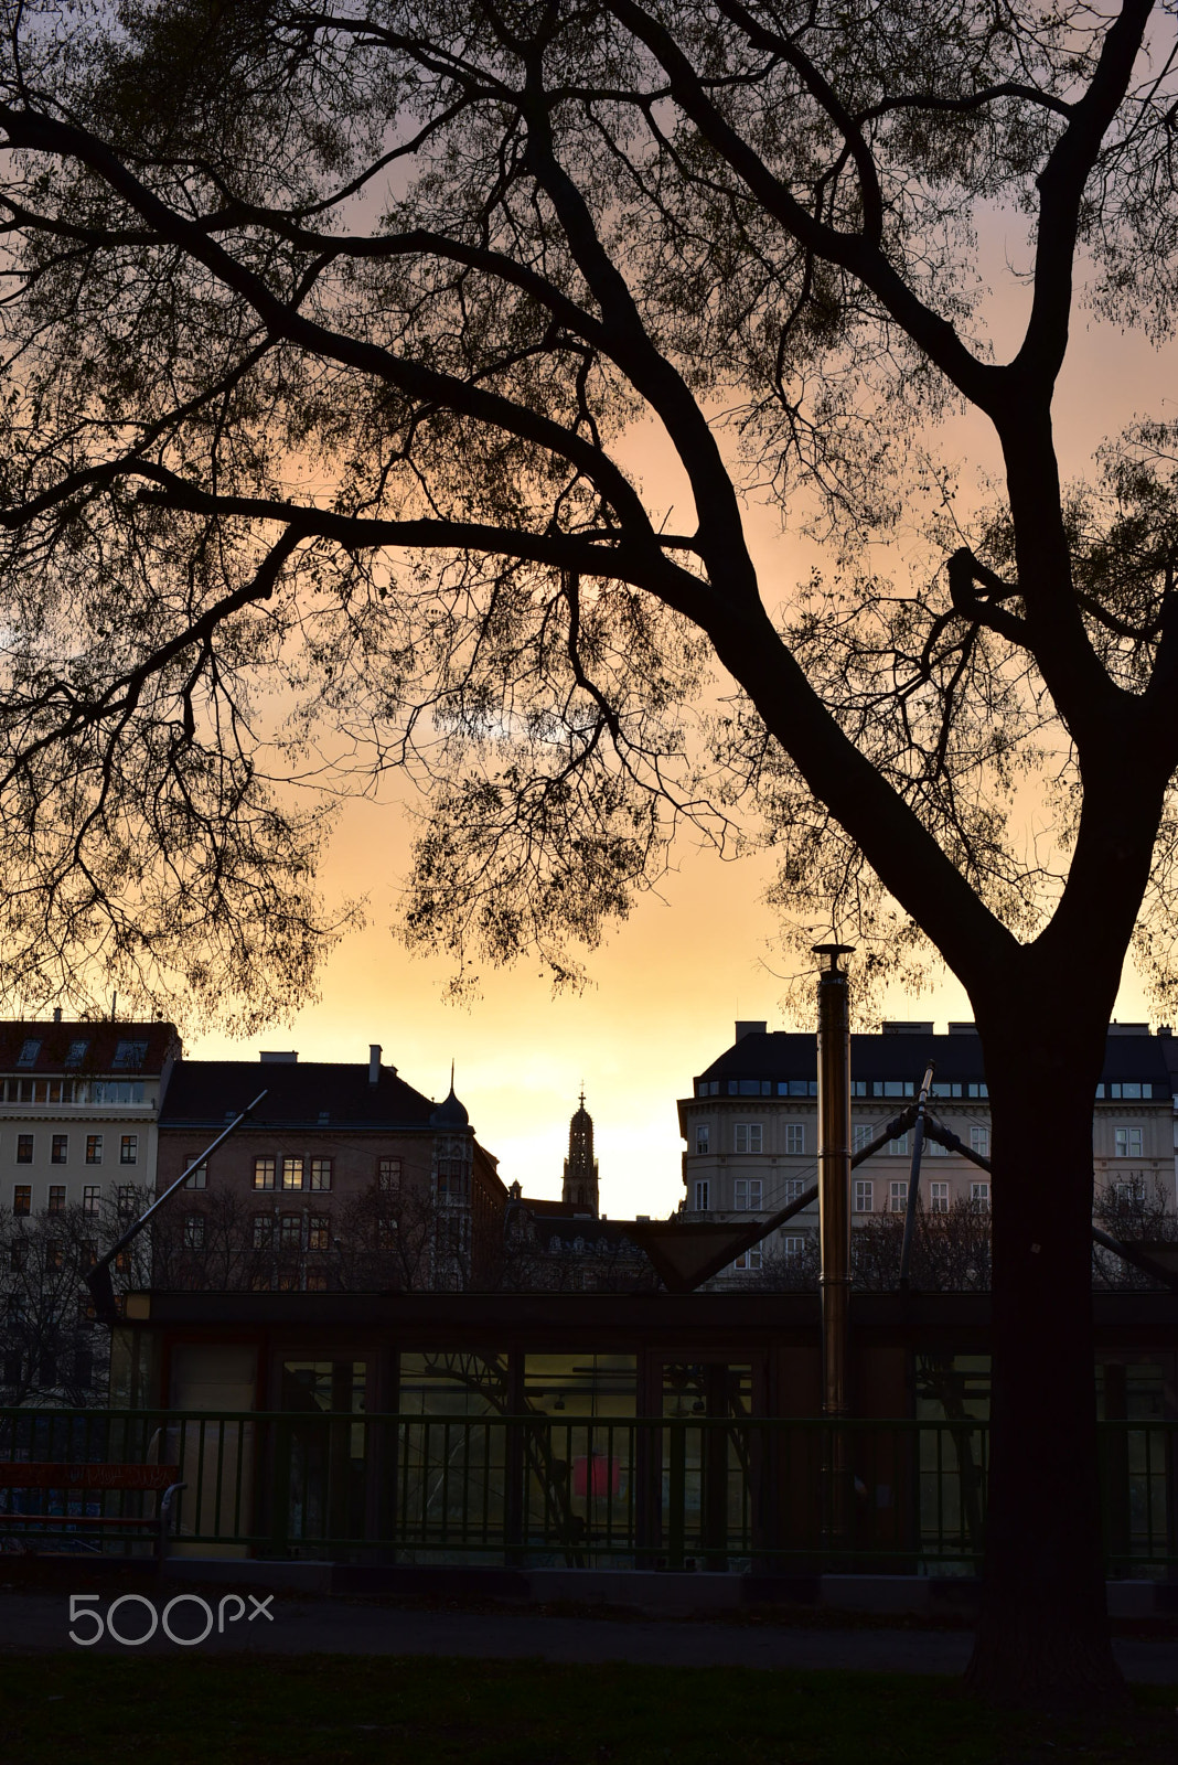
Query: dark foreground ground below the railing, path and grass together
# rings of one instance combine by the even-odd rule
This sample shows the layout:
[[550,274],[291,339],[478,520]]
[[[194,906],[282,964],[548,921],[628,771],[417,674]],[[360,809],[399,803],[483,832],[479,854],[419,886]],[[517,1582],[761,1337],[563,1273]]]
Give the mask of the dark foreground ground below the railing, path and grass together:
[[[263,1588],[229,1596],[238,1613],[220,1606],[224,1587],[159,1588],[81,1566],[71,1620],[60,1571],[0,1574],[0,1765],[1178,1765],[1171,1622],[1116,1626],[1132,1703],[1085,1723],[966,1696],[965,1626],[806,1608],[651,1620]],[[192,1647],[159,1624],[178,1594],[176,1636],[212,1626]],[[71,1641],[71,1627],[97,1629],[81,1613],[102,1620],[93,1647]]]

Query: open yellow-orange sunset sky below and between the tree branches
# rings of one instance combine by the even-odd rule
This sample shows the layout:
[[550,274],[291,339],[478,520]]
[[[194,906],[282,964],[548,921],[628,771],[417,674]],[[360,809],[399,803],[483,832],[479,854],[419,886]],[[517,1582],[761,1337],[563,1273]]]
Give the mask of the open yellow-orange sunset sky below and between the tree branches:
[[[991,217],[982,238],[982,268],[998,284],[1007,259],[1025,258],[1021,224]],[[993,305],[1000,357],[1018,328],[1025,291],[1010,286]],[[1056,399],[1056,436],[1065,477],[1086,468],[1092,448],[1134,415],[1173,417],[1164,394],[1178,385],[1178,349],[1155,355],[1139,337],[1109,327],[1086,328],[1077,314],[1074,349]],[[681,482],[651,468],[642,438],[651,503],[679,503]],[[989,436],[961,420],[943,432],[947,455],[972,454],[998,466]],[[783,600],[804,577],[809,552],[778,535],[776,515],[751,508],[749,538],[764,565],[765,600]],[[767,872],[757,861],[719,863],[682,847],[679,872],[663,898],[647,898],[591,962],[593,985],[580,995],[552,999],[534,964],[485,976],[485,992],[469,1010],[443,1001],[448,978],[441,960],[409,958],[388,932],[397,907],[397,877],[407,835],[395,805],[356,803],[346,812],[330,865],[328,891],[369,895],[372,925],[347,939],[330,960],[323,1001],[307,1006],[293,1027],[277,1027],[254,1043],[220,1036],[194,1038],[190,1055],[252,1057],[259,1047],[298,1048],[303,1059],[363,1061],[379,1041],[384,1061],[432,1096],[443,1096],[450,1061],[457,1091],[480,1140],[499,1156],[504,1181],[526,1193],[559,1195],[568,1117],[580,1085],[594,1117],[601,1165],[601,1207],[612,1216],[667,1214],[682,1193],[675,1098],[693,1073],[732,1041],[737,1017],[785,1024],[781,983],[772,964],[774,921],[760,905]],[[894,995],[889,1013],[947,1018],[970,1015],[956,983],[924,999]],[[1118,1001],[1122,1018],[1144,1018],[1132,976]]]

